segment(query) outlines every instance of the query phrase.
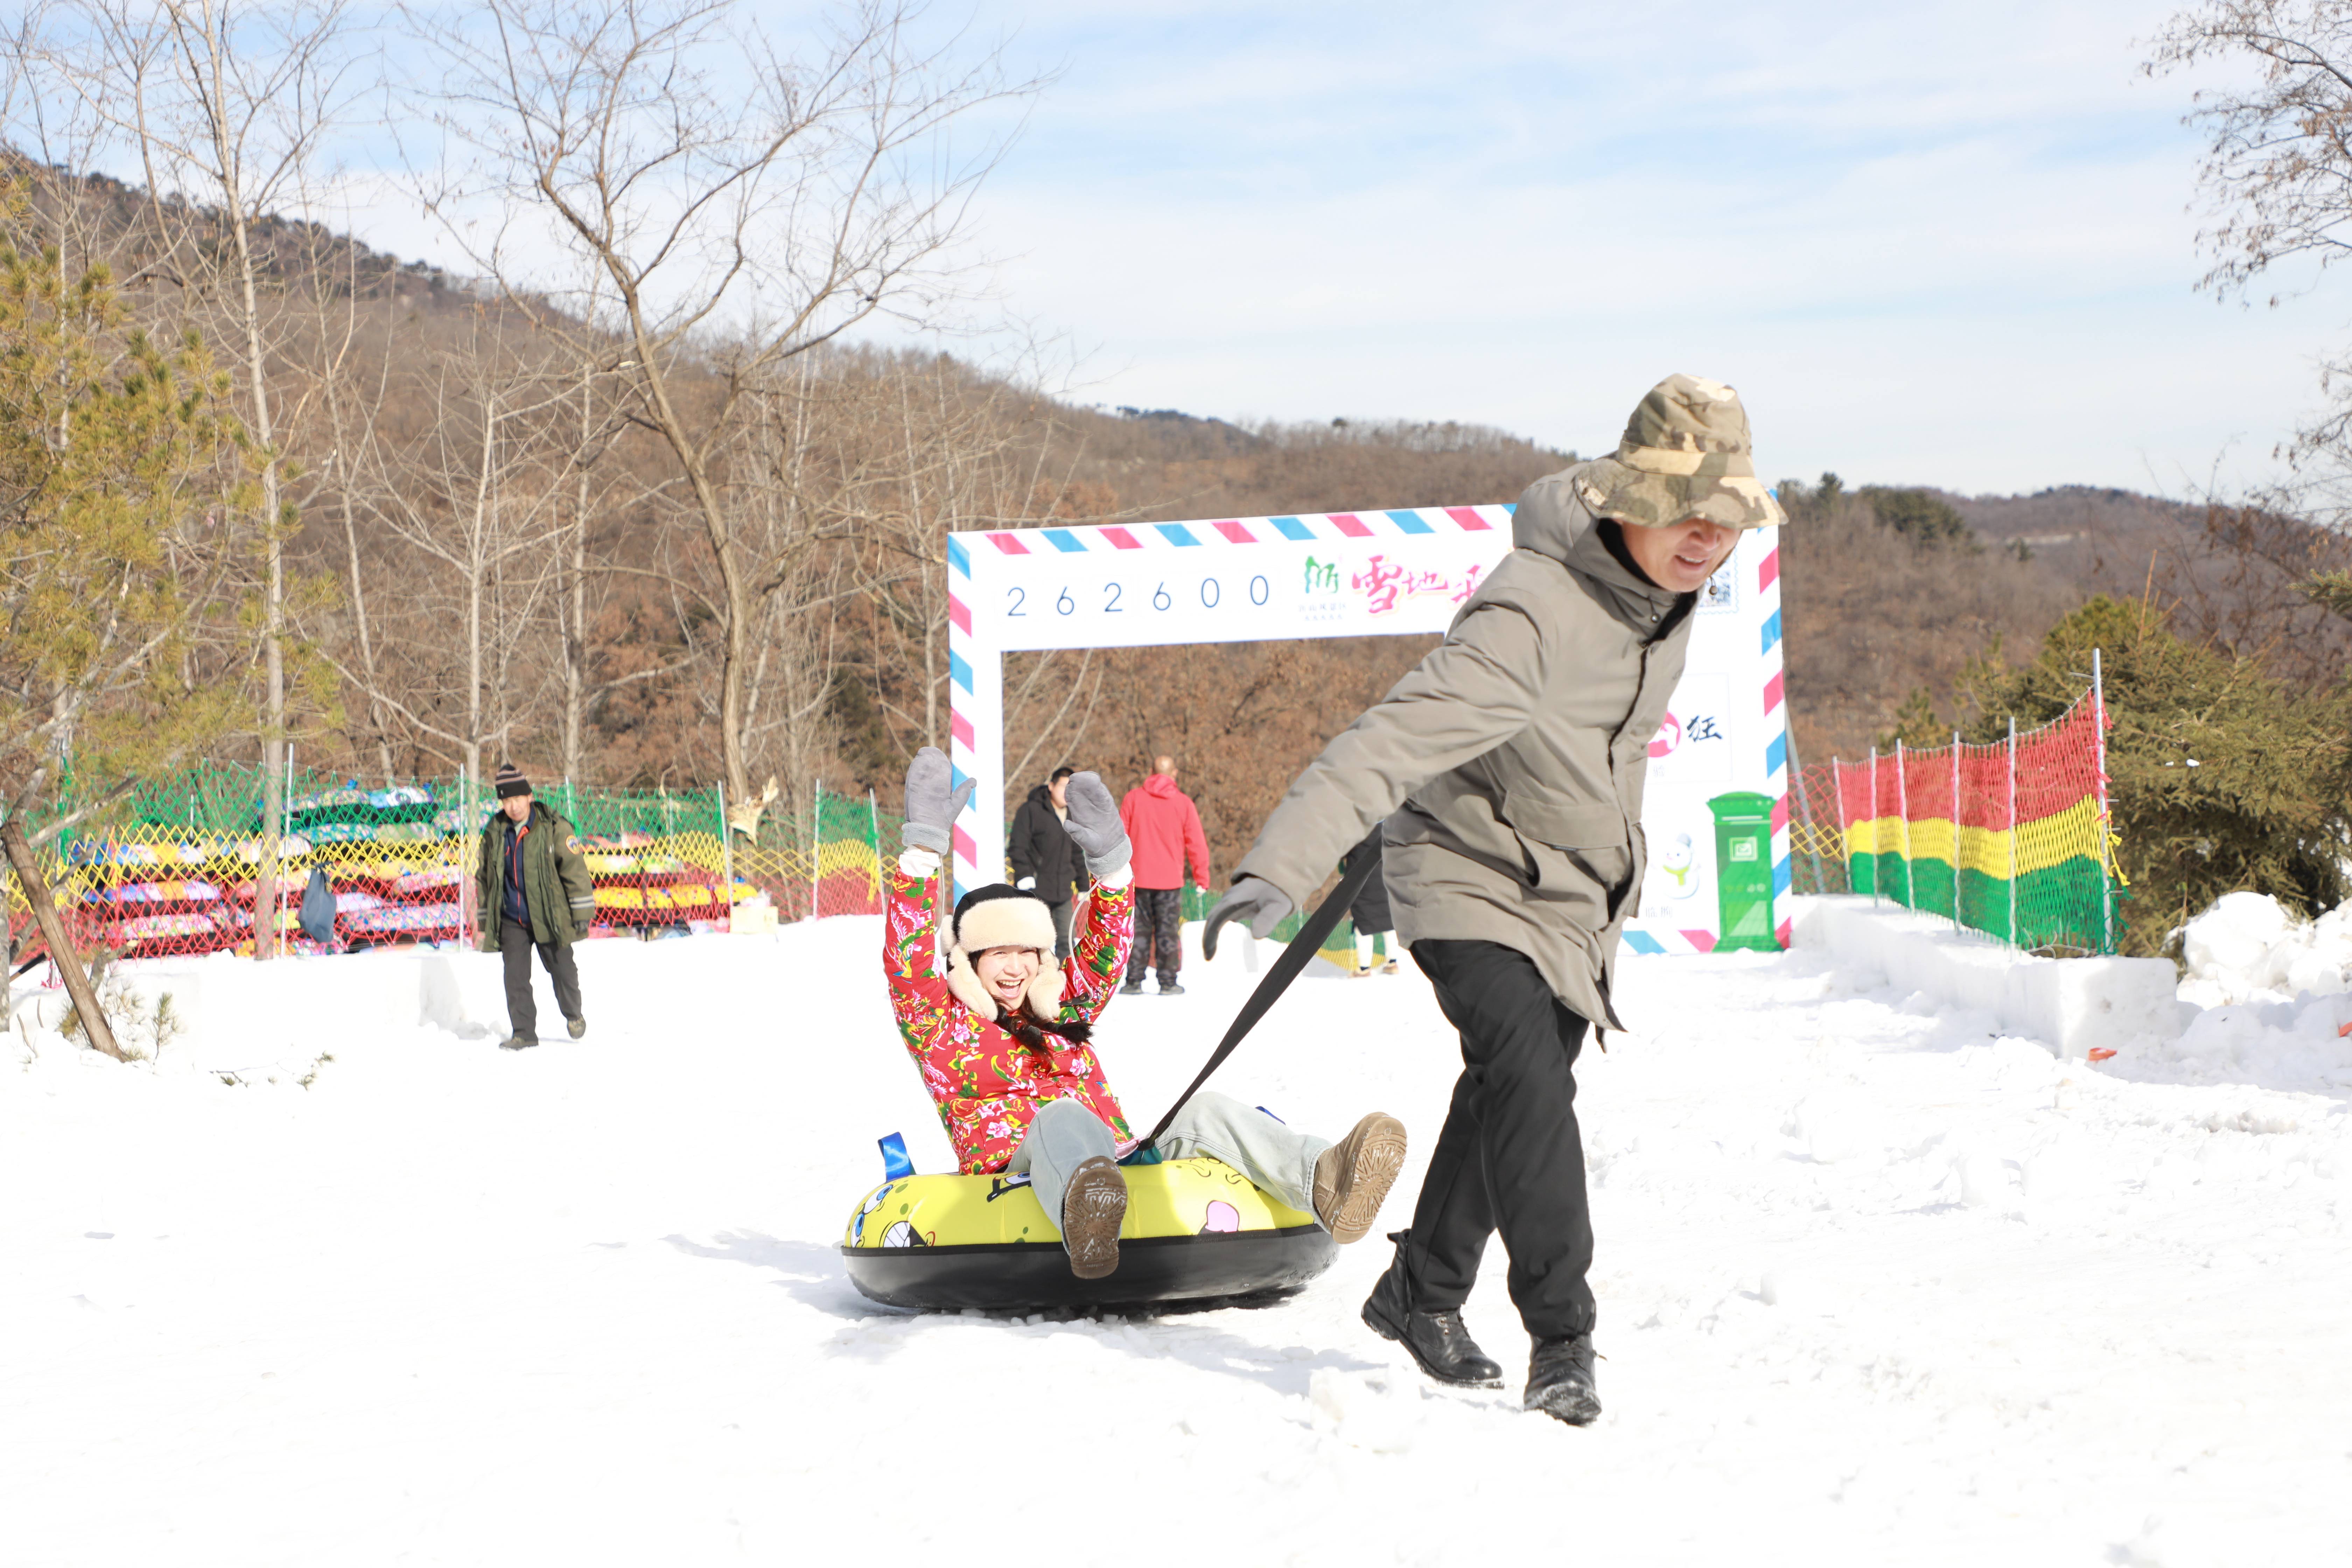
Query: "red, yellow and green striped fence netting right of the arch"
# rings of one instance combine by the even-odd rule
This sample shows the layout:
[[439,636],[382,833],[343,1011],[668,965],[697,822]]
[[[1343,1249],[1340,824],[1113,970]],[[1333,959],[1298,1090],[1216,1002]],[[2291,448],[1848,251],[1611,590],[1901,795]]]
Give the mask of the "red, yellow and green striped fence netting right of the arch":
[[2093,689],[2009,741],[1832,764],[1851,891],[2034,952],[2114,952],[2100,722]]

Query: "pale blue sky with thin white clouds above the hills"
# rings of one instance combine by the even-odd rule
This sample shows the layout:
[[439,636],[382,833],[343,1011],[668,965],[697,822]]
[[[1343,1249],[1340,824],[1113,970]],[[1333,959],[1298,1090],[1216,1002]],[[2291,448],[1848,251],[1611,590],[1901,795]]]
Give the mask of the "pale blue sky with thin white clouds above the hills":
[[[983,310],[1056,334],[1080,400],[1595,451],[1679,369],[1743,390],[1769,477],[2185,491],[2270,473],[2352,306],[2326,282],[2279,310],[2192,289],[2194,82],[2138,73],[2169,9],[931,19],[1058,68],[971,233]],[[440,256],[414,221],[374,237]]]

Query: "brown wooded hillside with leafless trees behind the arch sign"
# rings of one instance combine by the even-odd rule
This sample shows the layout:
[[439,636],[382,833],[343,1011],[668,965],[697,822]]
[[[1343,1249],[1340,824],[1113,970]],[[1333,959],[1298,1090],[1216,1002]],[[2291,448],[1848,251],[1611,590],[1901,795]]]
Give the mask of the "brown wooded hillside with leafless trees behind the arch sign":
[[[21,249],[113,256],[160,329],[226,331],[153,280],[169,252],[153,230],[172,212],[24,165],[19,190]],[[306,226],[261,233],[287,614],[296,691],[310,693],[289,722],[301,757],[362,778],[480,776],[506,757],[583,785],[717,778],[727,588],[619,371],[560,353],[546,301]],[[710,409],[731,374],[724,350],[682,355],[673,397]],[[741,750],[755,783],[779,780],[783,820],[818,783],[887,795],[913,748],[943,743],[950,529],[1498,503],[1573,461],[1475,425],[1242,428],[1077,407],[950,357],[844,346],[797,357],[753,402],[715,475],[757,562]],[[2027,658],[2100,590],[2154,592],[2180,635],[2305,682],[2340,668],[2347,623],[2291,588],[2336,564],[2333,541],[2288,522],[2112,489],[1952,496],[1825,475],[1783,494],[1788,693],[1806,762],[1966,724],[1955,693],[1969,663]],[[254,630],[235,625],[209,646],[230,672]],[[1007,809],[1056,764],[1124,790],[1174,752],[1230,867],[1296,769],[1425,646],[1018,656]],[[259,759],[259,733],[230,724],[212,750]]]

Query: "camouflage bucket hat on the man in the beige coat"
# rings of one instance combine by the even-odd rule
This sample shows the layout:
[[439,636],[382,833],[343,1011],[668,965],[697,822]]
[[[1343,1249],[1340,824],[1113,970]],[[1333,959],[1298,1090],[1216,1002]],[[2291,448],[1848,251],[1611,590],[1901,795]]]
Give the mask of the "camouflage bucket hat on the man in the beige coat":
[[1740,395],[1705,376],[1668,376],[1625,421],[1616,456],[1576,477],[1595,517],[1663,529],[1705,517],[1726,529],[1788,522],[1757,480]]

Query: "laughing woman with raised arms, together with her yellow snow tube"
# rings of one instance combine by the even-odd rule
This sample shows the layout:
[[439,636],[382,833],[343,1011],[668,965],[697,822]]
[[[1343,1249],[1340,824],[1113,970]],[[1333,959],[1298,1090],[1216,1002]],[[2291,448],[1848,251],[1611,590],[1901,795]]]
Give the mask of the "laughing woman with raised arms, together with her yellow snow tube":
[[[960,1178],[896,1178],[870,1194],[844,1237],[849,1279],[910,1307],[1051,1307],[1284,1291],[1329,1267],[1334,1244],[1371,1229],[1404,1126],[1374,1112],[1329,1143],[1200,1093],[1155,1152],[1138,1150],[1089,1046],[1134,936],[1110,790],[1094,773],[1068,785],[1068,832],[1094,882],[1070,966],[1054,964],[1047,905],[995,884],[957,903],[938,976],[931,879],[974,788],[950,795],[948,778],[929,745],[908,766],[882,969]],[[1171,1166],[1120,1164],[1155,1154]],[[1122,1232],[1141,1265],[1124,1281]]]

